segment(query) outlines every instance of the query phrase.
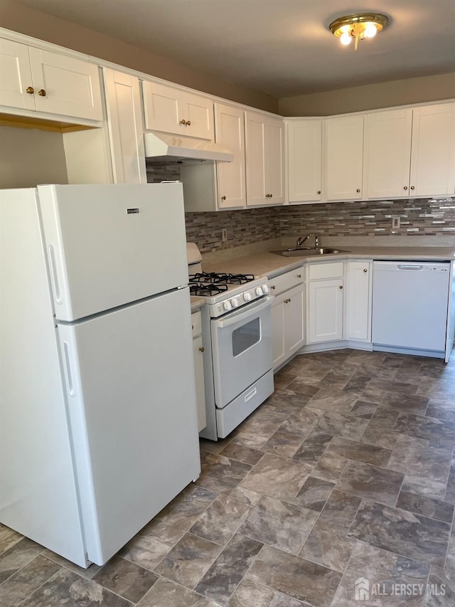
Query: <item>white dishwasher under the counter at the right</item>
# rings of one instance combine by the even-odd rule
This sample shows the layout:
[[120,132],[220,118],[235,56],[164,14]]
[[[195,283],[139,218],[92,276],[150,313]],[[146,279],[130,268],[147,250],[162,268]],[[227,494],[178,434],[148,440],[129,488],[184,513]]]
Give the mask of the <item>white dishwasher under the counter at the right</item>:
[[444,358],[450,263],[373,262],[373,350]]

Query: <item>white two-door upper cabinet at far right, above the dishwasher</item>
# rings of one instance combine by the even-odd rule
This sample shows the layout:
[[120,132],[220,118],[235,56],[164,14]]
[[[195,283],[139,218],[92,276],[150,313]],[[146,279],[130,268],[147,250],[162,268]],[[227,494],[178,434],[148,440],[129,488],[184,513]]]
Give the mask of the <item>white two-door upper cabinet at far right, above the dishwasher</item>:
[[373,112],[367,125],[369,198],[454,194],[454,103]]

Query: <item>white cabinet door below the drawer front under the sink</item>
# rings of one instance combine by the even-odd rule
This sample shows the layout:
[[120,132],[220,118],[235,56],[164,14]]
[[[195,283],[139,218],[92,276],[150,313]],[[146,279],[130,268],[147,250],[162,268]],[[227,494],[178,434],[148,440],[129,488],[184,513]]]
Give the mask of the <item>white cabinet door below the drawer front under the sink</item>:
[[308,287],[308,342],[343,338],[343,279],[315,280]]

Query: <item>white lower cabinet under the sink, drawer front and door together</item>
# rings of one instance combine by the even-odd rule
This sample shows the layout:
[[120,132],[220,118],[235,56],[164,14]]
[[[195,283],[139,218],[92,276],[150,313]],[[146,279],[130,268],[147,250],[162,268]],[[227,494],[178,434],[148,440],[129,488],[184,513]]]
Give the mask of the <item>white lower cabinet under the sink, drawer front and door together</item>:
[[343,262],[310,264],[307,342],[343,339]]

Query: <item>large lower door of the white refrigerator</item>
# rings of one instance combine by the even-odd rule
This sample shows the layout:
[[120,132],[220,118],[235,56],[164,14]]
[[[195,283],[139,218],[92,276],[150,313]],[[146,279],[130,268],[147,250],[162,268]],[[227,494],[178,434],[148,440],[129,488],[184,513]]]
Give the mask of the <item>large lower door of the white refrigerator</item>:
[[103,564],[200,473],[188,287],[58,332],[87,554]]

